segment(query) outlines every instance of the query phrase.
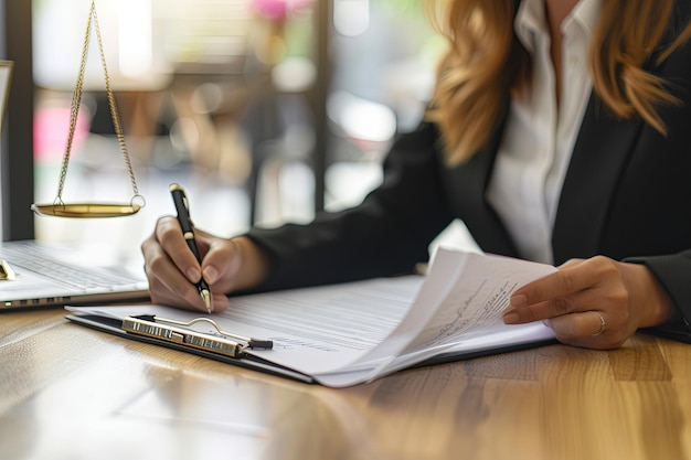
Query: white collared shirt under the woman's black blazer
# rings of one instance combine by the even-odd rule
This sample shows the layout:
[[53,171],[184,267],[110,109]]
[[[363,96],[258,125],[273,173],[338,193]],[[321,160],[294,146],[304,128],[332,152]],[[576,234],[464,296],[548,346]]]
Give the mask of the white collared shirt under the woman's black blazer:
[[552,228],[562,183],[592,90],[587,56],[600,0],[580,0],[564,19],[556,104],[544,0],[523,0],[514,28],[533,60],[530,88],[511,99],[487,189],[521,257],[553,263]]

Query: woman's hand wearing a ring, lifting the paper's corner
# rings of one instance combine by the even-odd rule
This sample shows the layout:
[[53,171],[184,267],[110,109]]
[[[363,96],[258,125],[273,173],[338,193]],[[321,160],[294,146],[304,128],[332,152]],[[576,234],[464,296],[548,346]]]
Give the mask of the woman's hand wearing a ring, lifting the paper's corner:
[[568,260],[518,289],[503,320],[544,321],[562,343],[606,350],[673,314],[671,300],[645,265],[596,256]]

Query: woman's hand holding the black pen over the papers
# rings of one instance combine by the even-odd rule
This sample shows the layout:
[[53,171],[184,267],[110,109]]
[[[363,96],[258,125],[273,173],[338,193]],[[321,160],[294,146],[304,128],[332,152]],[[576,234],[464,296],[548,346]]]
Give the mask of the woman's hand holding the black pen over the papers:
[[206,312],[195,284],[204,277],[211,291],[212,311],[228,307],[226,295],[257,286],[268,271],[268,260],[246,237],[220,238],[195,229],[202,263],[182,237],[174,217],[161,217],[141,244],[145,271],[155,303]]

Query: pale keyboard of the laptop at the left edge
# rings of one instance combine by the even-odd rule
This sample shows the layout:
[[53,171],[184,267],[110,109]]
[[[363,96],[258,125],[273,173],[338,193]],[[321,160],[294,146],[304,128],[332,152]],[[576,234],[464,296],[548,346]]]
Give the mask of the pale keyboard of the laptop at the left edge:
[[42,253],[40,248],[30,245],[2,247],[2,257],[11,264],[20,276],[21,269],[26,269],[79,289],[141,282],[141,279],[134,276],[127,278],[107,271],[94,271],[88,268],[67,265],[49,258]]

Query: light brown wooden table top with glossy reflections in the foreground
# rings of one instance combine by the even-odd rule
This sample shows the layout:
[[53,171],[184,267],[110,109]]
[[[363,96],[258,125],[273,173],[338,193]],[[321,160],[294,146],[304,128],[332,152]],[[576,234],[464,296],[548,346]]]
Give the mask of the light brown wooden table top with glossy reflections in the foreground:
[[691,459],[691,346],[550,345],[344,389],[0,315],[0,459]]

